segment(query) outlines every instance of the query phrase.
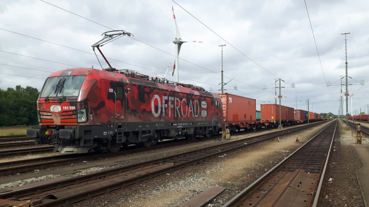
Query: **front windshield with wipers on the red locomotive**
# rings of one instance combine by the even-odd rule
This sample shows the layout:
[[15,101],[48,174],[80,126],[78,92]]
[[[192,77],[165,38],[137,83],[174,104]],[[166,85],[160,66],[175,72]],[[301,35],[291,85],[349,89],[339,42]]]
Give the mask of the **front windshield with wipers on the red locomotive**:
[[78,96],[86,76],[50,77],[42,87],[40,98]]

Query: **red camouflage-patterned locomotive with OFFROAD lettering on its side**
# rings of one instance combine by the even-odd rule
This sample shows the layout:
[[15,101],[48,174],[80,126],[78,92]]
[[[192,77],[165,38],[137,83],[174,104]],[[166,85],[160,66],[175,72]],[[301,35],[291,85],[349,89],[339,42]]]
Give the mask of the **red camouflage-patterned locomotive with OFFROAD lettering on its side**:
[[117,152],[122,145],[211,136],[222,121],[221,101],[214,93],[116,69],[51,74],[37,112],[39,126],[28,129],[27,136],[61,153]]

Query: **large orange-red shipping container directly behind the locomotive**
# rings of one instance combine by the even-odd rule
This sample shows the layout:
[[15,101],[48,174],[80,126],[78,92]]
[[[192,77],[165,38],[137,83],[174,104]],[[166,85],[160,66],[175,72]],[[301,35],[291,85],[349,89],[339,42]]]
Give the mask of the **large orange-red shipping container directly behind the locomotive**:
[[223,121],[256,121],[256,100],[229,93],[218,94],[223,104]]

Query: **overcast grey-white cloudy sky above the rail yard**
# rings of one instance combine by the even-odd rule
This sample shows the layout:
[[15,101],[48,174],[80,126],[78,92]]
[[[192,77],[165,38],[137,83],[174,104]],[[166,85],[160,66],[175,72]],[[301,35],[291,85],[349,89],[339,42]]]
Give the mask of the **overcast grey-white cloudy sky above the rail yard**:
[[[218,45],[226,44],[224,82],[235,79],[225,85],[225,92],[256,99],[257,109],[263,101],[275,103],[275,79],[281,78],[281,94],[287,96],[283,105],[306,110],[309,99],[310,111],[338,114],[341,77],[345,83],[341,33],[351,32],[348,90],[354,97],[348,111],[352,99],[354,114],[360,108],[368,113],[368,0],[1,0],[0,88],[41,90],[52,72],[101,69],[91,45],[112,29],[134,35],[101,47],[114,59],[112,67],[155,77],[154,72],[164,75],[170,62],[166,78],[175,81],[172,6],[182,39],[189,41],[179,55],[180,82],[217,92]],[[100,62],[108,67],[101,57]]]

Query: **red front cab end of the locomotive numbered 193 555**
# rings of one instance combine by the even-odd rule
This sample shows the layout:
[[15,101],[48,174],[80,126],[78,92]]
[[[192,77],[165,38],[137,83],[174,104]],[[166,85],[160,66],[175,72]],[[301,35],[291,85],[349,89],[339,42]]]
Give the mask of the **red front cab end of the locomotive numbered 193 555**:
[[37,101],[39,126],[28,129],[27,136],[36,138],[36,144],[55,145],[61,153],[88,153],[97,146],[92,131],[100,121],[93,117],[89,94],[99,91],[99,78],[92,77],[93,69],[66,69],[47,78]]

